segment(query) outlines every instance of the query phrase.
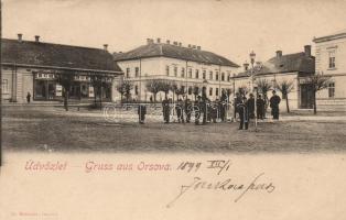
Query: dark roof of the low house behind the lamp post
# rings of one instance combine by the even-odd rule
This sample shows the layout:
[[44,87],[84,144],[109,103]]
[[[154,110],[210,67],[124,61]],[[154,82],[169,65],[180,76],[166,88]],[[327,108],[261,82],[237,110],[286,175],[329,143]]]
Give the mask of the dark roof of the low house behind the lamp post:
[[[280,74],[298,72],[301,74],[313,74],[315,72],[315,57],[306,56],[304,52],[275,56],[253,67],[256,75]],[[251,69],[239,73],[236,77],[248,77]]]

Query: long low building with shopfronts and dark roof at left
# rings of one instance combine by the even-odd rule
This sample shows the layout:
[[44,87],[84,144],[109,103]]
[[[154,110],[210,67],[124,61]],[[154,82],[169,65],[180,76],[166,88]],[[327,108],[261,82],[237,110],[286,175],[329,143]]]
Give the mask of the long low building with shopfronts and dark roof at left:
[[[115,81],[122,72],[112,55],[104,50],[35,41],[1,40],[1,98],[9,102],[62,100],[61,78],[71,80],[69,98],[102,97],[111,101]],[[95,86],[96,79],[100,87]]]

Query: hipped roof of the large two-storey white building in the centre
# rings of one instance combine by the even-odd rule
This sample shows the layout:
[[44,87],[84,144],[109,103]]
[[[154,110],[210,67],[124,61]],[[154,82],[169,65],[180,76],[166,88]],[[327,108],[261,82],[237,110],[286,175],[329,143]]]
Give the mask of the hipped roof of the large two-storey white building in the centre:
[[235,64],[234,62],[212,52],[163,43],[149,43],[127,53],[116,53],[113,56],[115,61],[164,56],[205,64],[239,67],[239,65]]

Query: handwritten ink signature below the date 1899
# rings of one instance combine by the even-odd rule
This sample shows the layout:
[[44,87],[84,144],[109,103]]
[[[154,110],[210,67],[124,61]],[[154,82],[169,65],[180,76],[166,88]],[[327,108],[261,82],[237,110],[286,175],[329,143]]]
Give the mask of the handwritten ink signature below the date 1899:
[[234,199],[234,202],[238,202],[246,194],[250,191],[264,191],[271,194],[275,190],[275,186],[272,183],[261,182],[260,178],[264,175],[261,173],[257,175],[249,184],[236,184],[231,178],[227,178],[221,182],[208,182],[201,177],[194,177],[193,182],[187,185],[182,185],[180,194],[170,201],[166,207],[171,208],[183,195],[193,190],[221,190],[221,191],[237,191],[239,193]]

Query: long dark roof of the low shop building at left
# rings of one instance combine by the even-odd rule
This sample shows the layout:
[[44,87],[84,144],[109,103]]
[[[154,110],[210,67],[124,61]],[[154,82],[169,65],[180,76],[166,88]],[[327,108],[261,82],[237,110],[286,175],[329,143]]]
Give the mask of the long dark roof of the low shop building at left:
[[1,40],[1,63],[35,67],[120,73],[105,50],[32,41]]

